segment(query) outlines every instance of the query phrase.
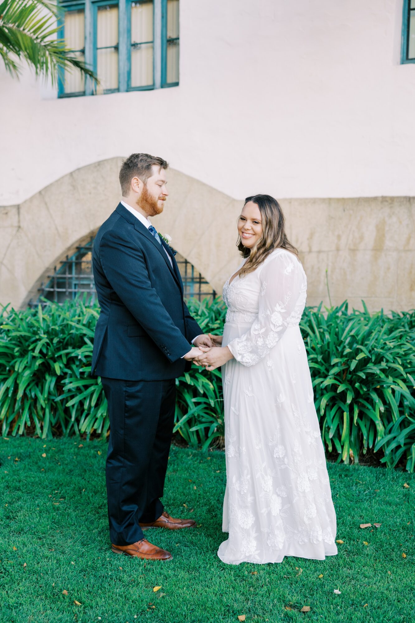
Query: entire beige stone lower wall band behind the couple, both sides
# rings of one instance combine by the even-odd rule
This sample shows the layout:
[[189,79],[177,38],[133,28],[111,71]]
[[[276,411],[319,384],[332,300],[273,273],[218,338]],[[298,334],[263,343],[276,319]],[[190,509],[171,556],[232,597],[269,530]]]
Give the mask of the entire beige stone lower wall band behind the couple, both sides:
[[[45,275],[97,231],[120,199],[121,158],[65,175],[19,206],[0,207],[0,303],[24,307]],[[153,219],[221,292],[236,269],[242,201],[169,171],[165,211]],[[264,189],[266,191],[266,189]],[[371,310],[415,307],[415,197],[281,199],[308,277],[309,305],[346,298]]]

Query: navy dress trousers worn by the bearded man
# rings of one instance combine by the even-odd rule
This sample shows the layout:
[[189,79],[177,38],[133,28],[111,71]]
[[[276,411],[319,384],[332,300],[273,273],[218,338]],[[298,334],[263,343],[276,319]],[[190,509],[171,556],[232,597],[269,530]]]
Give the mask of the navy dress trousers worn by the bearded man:
[[123,381],[101,378],[110,417],[105,477],[113,545],[144,537],[139,521],[163,513],[163,496],[176,381]]

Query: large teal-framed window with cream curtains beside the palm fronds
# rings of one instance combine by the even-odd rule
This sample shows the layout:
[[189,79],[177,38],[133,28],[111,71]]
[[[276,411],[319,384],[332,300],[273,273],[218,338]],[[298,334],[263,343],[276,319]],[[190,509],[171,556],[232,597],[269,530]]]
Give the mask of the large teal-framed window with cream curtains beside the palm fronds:
[[95,71],[60,74],[59,97],[176,87],[179,0],[62,0],[59,36]]

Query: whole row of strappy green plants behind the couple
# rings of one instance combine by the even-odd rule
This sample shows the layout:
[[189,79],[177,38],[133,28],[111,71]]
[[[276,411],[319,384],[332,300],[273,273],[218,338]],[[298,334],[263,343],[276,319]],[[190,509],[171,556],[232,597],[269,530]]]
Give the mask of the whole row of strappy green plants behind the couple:
[[[221,334],[226,308],[189,302],[201,327]],[[0,328],[2,434],[108,432],[107,403],[90,377],[97,303],[50,303],[4,310]],[[348,312],[347,303],[306,308],[300,328],[307,348],[322,438],[338,460],[357,462],[368,449],[388,467],[415,469],[415,312]],[[177,379],[178,431],[189,445],[209,447],[224,435],[219,371],[193,366]]]

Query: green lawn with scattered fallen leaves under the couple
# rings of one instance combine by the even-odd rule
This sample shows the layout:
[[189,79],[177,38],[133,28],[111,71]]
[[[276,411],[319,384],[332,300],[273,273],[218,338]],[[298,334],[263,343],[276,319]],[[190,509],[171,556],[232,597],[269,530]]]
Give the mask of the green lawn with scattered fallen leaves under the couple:
[[147,531],[174,558],[145,563],[110,552],[105,454],[98,441],[0,439],[1,623],[415,621],[413,475],[330,464],[338,556],[231,566],[216,556],[224,454],[172,447],[165,506],[198,527]]

